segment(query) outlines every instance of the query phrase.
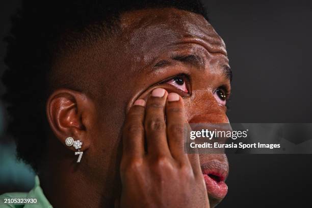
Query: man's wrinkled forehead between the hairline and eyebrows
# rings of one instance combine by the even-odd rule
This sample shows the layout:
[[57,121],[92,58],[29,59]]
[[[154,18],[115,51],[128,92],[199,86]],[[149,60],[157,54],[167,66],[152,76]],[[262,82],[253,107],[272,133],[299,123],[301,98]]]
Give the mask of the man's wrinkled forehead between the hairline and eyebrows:
[[204,42],[212,53],[226,56],[225,44],[206,19],[188,11],[174,8],[145,9],[121,15],[125,49],[146,62],[148,52],[158,53],[168,45],[180,42]]

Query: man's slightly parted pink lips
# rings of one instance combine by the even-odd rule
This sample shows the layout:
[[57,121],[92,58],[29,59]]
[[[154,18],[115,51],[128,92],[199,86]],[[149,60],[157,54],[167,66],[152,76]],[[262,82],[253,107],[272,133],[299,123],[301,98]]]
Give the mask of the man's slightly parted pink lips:
[[228,166],[218,160],[211,160],[201,165],[201,171],[209,196],[223,199],[227,194],[227,185],[224,181],[228,175]]

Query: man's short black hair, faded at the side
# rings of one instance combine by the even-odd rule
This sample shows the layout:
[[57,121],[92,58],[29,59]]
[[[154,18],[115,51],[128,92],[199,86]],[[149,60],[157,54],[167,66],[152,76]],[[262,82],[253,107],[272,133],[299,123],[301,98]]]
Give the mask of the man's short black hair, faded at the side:
[[[9,133],[15,138],[17,156],[38,172],[48,135],[45,102],[47,74],[56,53],[67,44],[88,38],[90,33],[106,34],[118,27],[120,14],[147,8],[176,8],[202,15],[197,0],[105,1],[24,0],[12,17],[3,82],[11,115]],[[207,19],[208,20],[208,19]]]

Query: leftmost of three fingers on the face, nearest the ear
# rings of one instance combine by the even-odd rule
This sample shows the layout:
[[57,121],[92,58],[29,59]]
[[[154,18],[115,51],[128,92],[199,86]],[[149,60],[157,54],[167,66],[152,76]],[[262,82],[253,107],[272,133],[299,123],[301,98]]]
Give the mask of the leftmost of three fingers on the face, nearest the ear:
[[137,100],[129,109],[123,127],[123,156],[141,157],[144,155],[144,113],[145,101]]

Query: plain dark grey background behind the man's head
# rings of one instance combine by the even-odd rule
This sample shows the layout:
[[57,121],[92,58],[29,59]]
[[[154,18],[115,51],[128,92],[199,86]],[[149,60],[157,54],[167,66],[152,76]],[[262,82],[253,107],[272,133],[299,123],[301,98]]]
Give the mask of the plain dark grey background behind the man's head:
[[[233,71],[233,123],[312,123],[309,1],[204,1]],[[3,37],[19,1],[0,3]],[[5,45],[0,45],[3,59]],[[0,64],[0,73],[5,66]],[[0,92],[3,91],[3,88]],[[312,155],[228,155],[219,207],[311,207]]]

